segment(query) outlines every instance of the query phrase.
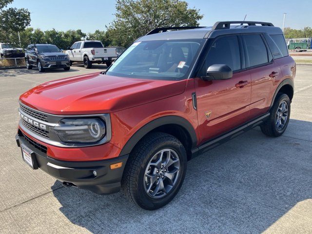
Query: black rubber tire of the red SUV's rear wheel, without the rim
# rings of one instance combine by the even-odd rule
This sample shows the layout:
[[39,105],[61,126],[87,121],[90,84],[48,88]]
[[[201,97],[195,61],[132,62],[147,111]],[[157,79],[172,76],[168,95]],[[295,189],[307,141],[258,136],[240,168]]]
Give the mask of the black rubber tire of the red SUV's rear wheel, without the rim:
[[[288,108],[287,119],[283,124],[284,126],[281,129],[279,129],[276,125],[276,119],[278,118],[277,113],[279,110],[279,106],[281,105],[281,103],[284,103],[284,102],[287,103],[287,108]],[[281,136],[285,132],[288,126],[290,114],[291,114],[291,101],[288,95],[278,93],[274,100],[274,104],[271,108],[269,119],[260,126],[262,133],[269,137]]]

